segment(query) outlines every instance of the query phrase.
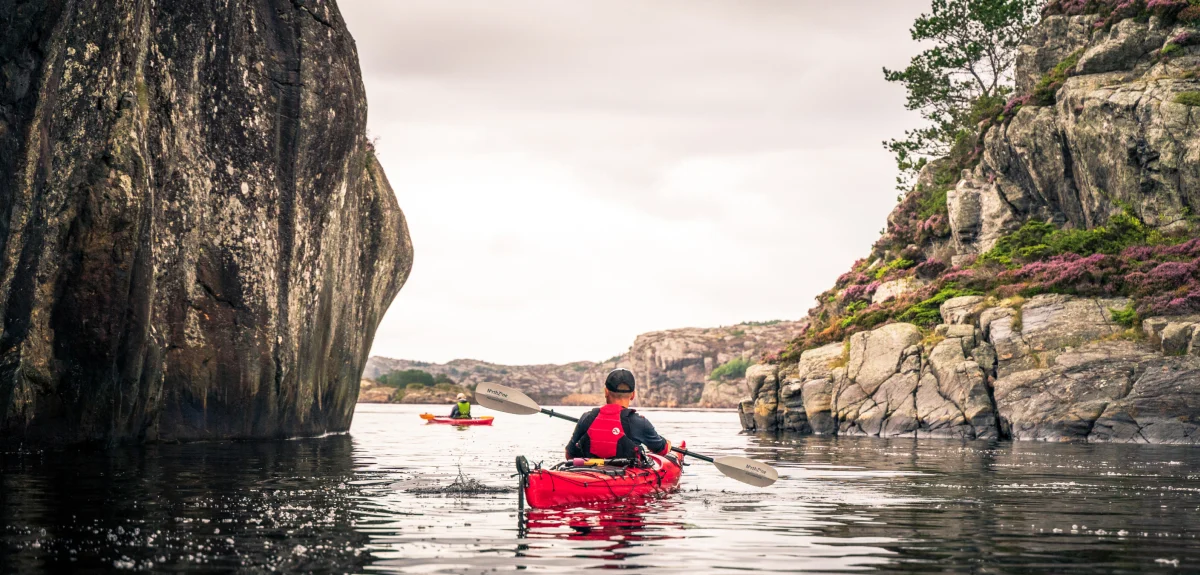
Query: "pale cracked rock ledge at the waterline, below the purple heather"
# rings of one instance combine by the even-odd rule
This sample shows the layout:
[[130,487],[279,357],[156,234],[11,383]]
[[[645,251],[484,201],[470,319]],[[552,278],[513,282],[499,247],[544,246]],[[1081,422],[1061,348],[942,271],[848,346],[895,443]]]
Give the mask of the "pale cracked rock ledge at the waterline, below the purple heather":
[[739,408],[743,427],[1200,443],[1200,346],[1188,347],[1198,318],[1151,318],[1134,333],[1112,318],[1126,304],[1064,295],[1007,305],[952,299],[942,317],[955,323],[929,337],[895,323],[856,334],[846,348],[805,352],[793,366],[752,369],[750,399]]

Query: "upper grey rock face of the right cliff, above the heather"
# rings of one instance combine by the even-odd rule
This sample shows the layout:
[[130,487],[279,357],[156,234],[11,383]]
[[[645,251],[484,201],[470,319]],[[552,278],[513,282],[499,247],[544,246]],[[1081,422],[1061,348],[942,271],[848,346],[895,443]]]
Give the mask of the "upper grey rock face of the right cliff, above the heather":
[[1028,220],[1093,228],[1128,206],[1147,224],[1184,226],[1200,205],[1200,44],[1152,17],[1096,29],[1096,16],[1050,16],[1021,47],[1020,92],[1070,55],[1074,76],[1054,106],[1025,106],[988,132],[983,161],[949,196],[959,257],[990,250]]

